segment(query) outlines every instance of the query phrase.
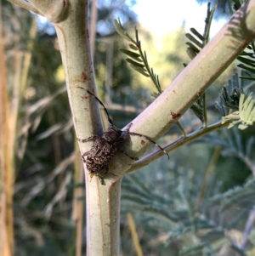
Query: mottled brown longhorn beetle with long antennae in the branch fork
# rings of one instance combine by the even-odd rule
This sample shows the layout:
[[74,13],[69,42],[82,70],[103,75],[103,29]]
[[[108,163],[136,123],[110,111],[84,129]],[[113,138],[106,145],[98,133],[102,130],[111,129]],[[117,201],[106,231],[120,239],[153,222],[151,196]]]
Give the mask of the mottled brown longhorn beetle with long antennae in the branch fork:
[[[78,88],[82,88],[82,87],[78,87]],[[125,151],[123,151],[122,149],[120,149],[118,147],[118,145],[120,145],[123,142],[123,140],[126,138],[127,134],[144,137],[145,139],[147,139],[150,142],[157,145],[161,149],[161,151],[163,151],[163,152],[165,152],[165,154],[167,154],[167,151],[165,151],[163,148],[161,148],[160,145],[156,144],[156,142],[154,140],[150,139],[150,137],[148,137],[144,134],[137,134],[137,133],[129,132],[129,129],[132,126],[132,122],[123,131],[119,128],[116,128],[116,126],[114,126],[114,124],[111,120],[111,117],[109,115],[109,112],[107,111],[103,102],[101,100],[99,100],[99,98],[96,95],[89,92],[85,88],[82,88],[82,89],[87,91],[88,94],[90,94],[91,96],[94,97],[94,99],[99,101],[99,104],[103,106],[106,116],[107,116],[107,119],[108,119],[108,122],[110,123],[109,128],[105,131],[105,133],[101,137],[94,134],[94,135],[88,137],[87,139],[78,139],[77,138],[77,140],[82,143],[87,142],[88,140],[94,139],[94,145],[92,145],[90,151],[87,151],[84,154],[82,154],[82,161],[86,162],[87,169],[88,169],[88,172],[89,172],[89,175],[91,178],[93,178],[94,175],[99,176],[101,184],[104,185],[105,181],[102,177],[103,177],[103,175],[108,173],[109,162],[111,161],[111,158],[116,154],[116,151],[121,151],[123,154],[128,156]],[[85,159],[85,156],[87,156],[87,159]],[[167,154],[167,156],[169,159],[168,154]],[[132,157],[132,156],[128,156],[128,157],[133,160],[138,160],[138,158],[136,158],[136,157]],[[106,171],[105,171],[105,174],[102,175],[102,174],[100,174],[100,172],[104,168],[106,169]]]

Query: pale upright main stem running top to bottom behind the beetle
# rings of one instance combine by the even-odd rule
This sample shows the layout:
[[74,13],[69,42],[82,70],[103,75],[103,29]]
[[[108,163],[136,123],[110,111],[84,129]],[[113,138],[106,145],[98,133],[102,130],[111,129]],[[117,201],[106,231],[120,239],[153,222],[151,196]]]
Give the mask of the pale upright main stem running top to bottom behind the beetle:
[[[36,5],[40,1],[33,1]],[[54,2],[54,1],[53,1]],[[88,33],[88,1],[72,0],[61,11],[59,5],[49,5],[46,17],[54,22],[74,127],[78,138],[103,134],[99,104],[86,91],[95,91],[94,67],[91,59]],[[44,9],[44,6],[38,9]],[[56,12],[54,12],[57,10]],[[65,15],[62,15],[65,14]],[[63,19],[64,18],[64,19]],[[80,151],[89,151],[93,141],[79,143]],[[83,163],[86,179],[87,255],[118,255],[120,179],[108,180],[101,185],[99,179],[91,179]]]

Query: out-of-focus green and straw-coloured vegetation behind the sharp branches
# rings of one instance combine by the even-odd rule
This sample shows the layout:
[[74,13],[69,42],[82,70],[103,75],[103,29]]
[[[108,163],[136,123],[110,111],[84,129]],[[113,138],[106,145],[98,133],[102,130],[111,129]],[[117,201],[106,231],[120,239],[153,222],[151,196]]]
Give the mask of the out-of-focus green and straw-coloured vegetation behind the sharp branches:
[[[162,88],[190,62],[184,27],[167,35],[159,50],[150,31],[139,26],[134,3],[126,2],[98,1],[97,17],[91,17],[96,19],[91,30],[99,98],[120,128],[150,104],[155,89],[118,52],[127,43],[116,34],[116,16],[128,32],[139,29]],[[216,2],[217,15],[229,17],[232,1]],[[14,255],[85,255],[85,185],[54,27],[6,1],[1,15]],[[207,91],[210,122],[220,117],[215,101],[235,71],[233,64]],[[191,111],[181,122],[189,131],[201,126]],[[166,145],[179,135],[173,127],[159,143]],[[255,255],[254,230],[245,247],[238,246],[254,205],[253,136],[253,127],[223,130],[173,151],[170,161],[162,157],[127,174],[122,182],[122,255]],[[6,175],[3,169],[1,175]]]

